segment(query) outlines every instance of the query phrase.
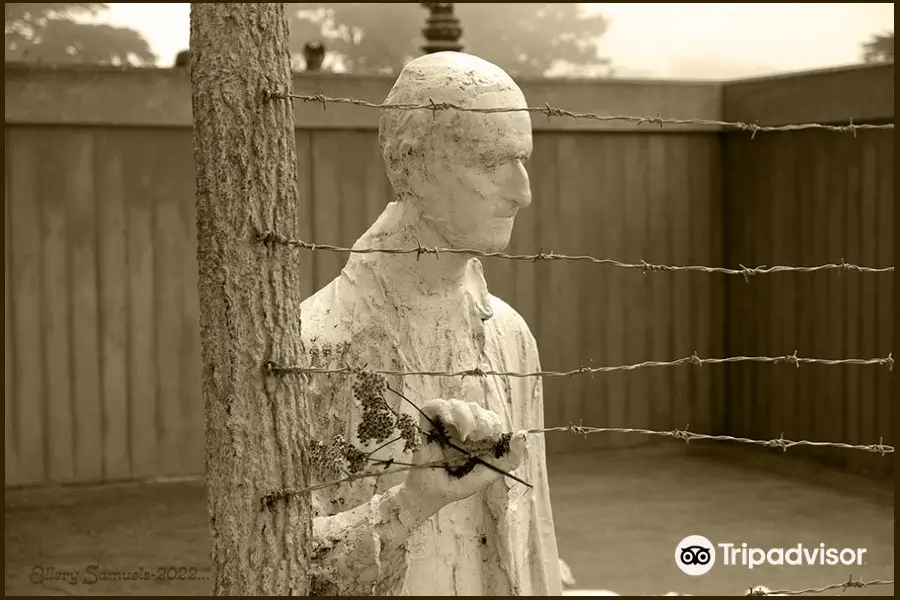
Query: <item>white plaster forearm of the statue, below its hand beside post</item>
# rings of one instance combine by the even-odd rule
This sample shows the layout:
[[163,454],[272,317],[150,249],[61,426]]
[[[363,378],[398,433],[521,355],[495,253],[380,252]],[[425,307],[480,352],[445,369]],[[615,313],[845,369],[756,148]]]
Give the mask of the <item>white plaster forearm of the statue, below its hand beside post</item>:
[[406,577],[406,540],[435,512],[401,483],[354,509],[315,517],[312,594],[398,594]]

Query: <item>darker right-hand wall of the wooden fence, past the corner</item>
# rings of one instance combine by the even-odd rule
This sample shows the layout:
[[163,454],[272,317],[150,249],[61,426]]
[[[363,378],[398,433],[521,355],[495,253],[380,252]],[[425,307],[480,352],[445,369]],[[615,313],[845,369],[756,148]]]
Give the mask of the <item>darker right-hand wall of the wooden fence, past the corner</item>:
[[[894,120],[893,65],[726,86],[724,118],[783,125]],[[728,134],[724,144],[726,262],[894,264],[894,132],[807,130]],[[729,280],[729,356],[886,357],[894,346],[894,275],[785,273]],[[749,437],[893,444],[883,367],[735,364],[730,431]],[[892,457],[820,450],[854,471],[890,474]]]

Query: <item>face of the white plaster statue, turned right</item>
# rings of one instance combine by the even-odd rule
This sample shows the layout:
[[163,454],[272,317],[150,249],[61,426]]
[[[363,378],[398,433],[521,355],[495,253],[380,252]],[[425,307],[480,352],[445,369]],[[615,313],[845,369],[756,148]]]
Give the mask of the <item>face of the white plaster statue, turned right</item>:
[[[518,90],[484,94],[479,107],[524,107]],[[421,156],[410,187],[424,219],[451,247],[506,248],[516,213],[531,203],[525,164],[531,156],[526,112],[454,113]],[[430,116],[429,116],[430,117]]]

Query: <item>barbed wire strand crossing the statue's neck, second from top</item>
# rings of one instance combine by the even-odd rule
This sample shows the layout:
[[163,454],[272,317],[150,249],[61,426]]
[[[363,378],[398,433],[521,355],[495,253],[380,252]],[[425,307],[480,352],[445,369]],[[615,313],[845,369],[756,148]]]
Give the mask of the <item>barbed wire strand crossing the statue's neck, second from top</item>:
[[841,258],[841,262],[838,264],[826,264],[826,265],[817,265],[813,267],[789,267],[789,266],[774,266],[767,267],[765,265],[759,267],[745,267],[741,265],[740,269],[727,269],[724,267],[705,267],[700,265],[657,265],[648,263],[647,261],[641,261],[639,263],[627,263],[619,260],[614,260],[611,258],[596,258],[594,256],[570,256],[566,254],[558,254],[556,252],[544,252],[544,249],[541,248],[537,254],[507,254],[505,252],[483,252],[481,250],[475,250],[474,248],[433,248],[422,246],[418,244],[415,248],[347,248],[342,246],[335,246],[332,244],[314,244],[312,242],[306,242],[300,239],[291,239],[280,233],[275,231],[265,231],[259,234],[259,240],[264,244],[282,244],[285,246],[292,246],[297,248],[303,248],[306,250],[310,250],[315,252],[317,250],[324,250],[327,252],[339,252],[345,254],[415,254],[417,257],[422,256],[423,254],[434,254],[435,256],[440,256],[441,254],[466,254],[471,256],[478,256],[482,258],[500,258],[505,260],[513,260],[513,261],[526,261],[526,262],[538,262],[542,260],[568,260],[575,262],[589,262],[593,264],[601,264],[608,265],[612,267],[618,267],[621,269],[640,269],[644,273],[648,271],[696,271],[700,273],[720,273],[723,275],[741,275],[744,277],[744,280],[749,282],[750,277],[753,275],[768,275],[772,273],[785,273],[785,272],[800,272],[800,273],[814,273],[818,271],[857,271],[859,273],[893,273],[894,267],[864,267],[860,265],[855,265],[853,263],[846,262],[843,258]]

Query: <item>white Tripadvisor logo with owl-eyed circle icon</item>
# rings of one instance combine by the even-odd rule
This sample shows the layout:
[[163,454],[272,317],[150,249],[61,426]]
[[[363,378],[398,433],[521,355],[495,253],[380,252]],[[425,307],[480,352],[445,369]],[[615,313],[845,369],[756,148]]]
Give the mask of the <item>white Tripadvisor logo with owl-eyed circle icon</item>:
[[713,544],[702,535],[689,535],[675,547],[675,564],[687,575],[705,575],[716,564],[748,569],[762,565],[856,565],[862,566],[866,548],[831,548],[825,544],[806,546],[797,544],[789,548],[754,548],[747,543]]

